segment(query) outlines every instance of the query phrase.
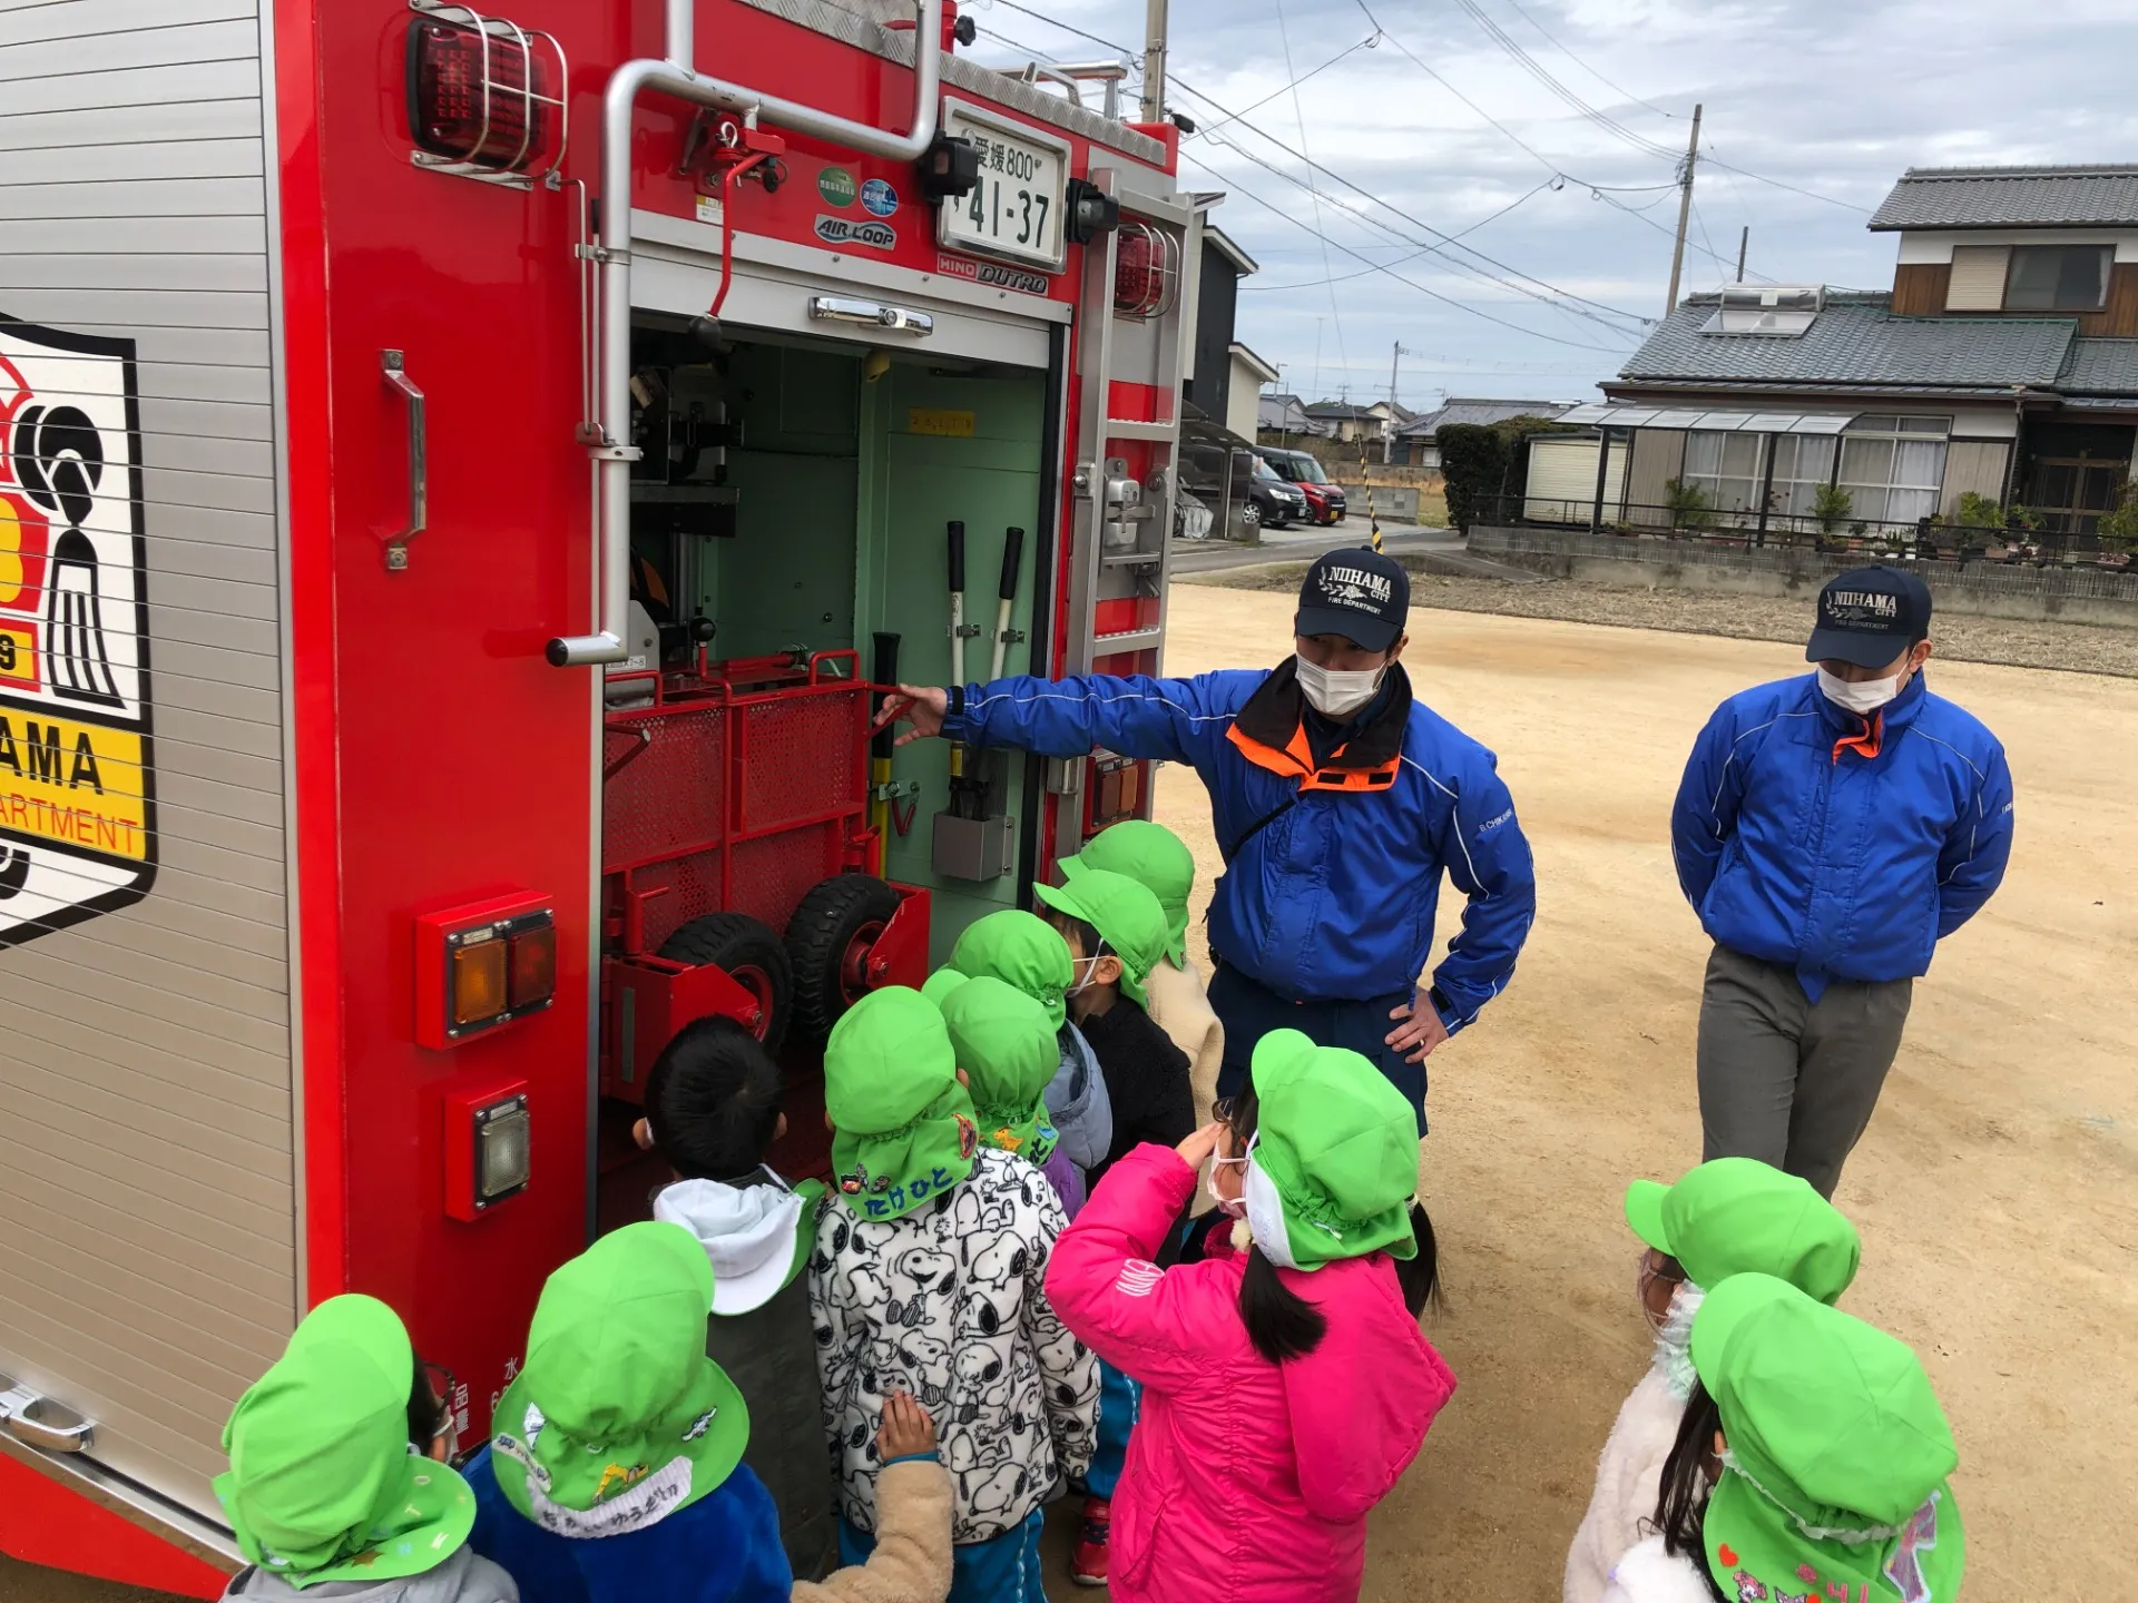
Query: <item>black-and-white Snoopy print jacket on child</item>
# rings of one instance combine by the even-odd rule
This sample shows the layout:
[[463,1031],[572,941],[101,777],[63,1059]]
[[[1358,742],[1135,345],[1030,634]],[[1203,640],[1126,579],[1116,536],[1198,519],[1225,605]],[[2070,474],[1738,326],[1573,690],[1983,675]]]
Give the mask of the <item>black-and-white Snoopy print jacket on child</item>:
[[810,1257],[817,1374],[838,1503],[877,1530],[877,1426],[887,1391],[934,1417],[951,1475],[951,1541],[998,1537],[1090,1464],[1099,1366],[1045,1297],[1067,1220],[1024,1158],[981,1148],[964,1184],[864,1220],[832,1193]]

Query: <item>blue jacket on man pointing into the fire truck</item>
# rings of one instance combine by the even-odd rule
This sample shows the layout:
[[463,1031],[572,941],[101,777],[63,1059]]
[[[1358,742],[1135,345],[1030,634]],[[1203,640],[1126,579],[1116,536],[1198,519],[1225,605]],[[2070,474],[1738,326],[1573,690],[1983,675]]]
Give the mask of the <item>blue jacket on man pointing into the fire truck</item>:
[[996,680],[951,695],[945,733],[1048,757],[1103,746],[1189,763],[1229,859],[1210,898],[1210,949],[1289,1000],[1409,994],[1432,955],[1445,870],[1469,904],[1432,981],[1443,1024],[1462,1028],[1514,975],[1537,908],[1529,842],[1492,752],[1411,701],[1388,789],[1300,789],[1229,740],[1270,678]]

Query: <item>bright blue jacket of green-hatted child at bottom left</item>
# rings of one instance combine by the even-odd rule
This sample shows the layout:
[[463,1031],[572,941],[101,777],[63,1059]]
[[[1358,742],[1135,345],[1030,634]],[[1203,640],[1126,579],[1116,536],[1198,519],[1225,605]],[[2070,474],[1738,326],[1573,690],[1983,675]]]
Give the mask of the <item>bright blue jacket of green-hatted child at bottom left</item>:
[[543,1530],[507,1503],[487,1447],[466,1477],[468,1545],[520,1582],[520,1603],[787,1603],[793,1592],[778,1509],[748,1464],[691,1507],[616,1537]]

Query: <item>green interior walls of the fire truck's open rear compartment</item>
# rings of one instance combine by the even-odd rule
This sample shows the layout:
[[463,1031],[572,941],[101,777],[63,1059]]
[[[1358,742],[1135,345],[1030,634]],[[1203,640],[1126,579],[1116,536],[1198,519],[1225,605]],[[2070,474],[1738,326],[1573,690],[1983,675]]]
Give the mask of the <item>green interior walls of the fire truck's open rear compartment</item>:
[[[902,680],[949,680],[947,524],[966,528],[966,678],[988,678],[1005,530],[1026,530],[1005,671],[1031,669],[1033,569],[1039,547],[1039,442],[1045,378],[1024,368],[956,370],[926,353],[896,355],[868,376],[866,351],[832,342],[733,342],[716,359],[671,344],[673,393],[714,417],[725,402],[742,423],[727,449],[738,492],[735,536],[680,541],[682,611],[716,624],[712,654],[768,656],[797,645],[857,648],[874,671],[874,633],[900,635]],[[712,472],[710,457],[699,479]],[[667,573],[671,554],[646,543]],[[695,562],[695,575],[691,566]],[[892,836],[885,874],[934,891],[934,960],[966,923],[1013,906],[1016,874],[994,881],[939,876],[934,814],[947,806],[949,746],[915,742],[894,759],[921,793],[907,836]],[[1018,819],[1024,759],[994,754],[971,772],[994,782],[990,812]]]

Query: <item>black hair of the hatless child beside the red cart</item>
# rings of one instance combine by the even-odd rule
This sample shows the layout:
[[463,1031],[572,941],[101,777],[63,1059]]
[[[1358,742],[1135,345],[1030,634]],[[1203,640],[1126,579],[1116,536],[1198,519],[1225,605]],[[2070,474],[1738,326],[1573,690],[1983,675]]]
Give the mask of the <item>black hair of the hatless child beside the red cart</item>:
[[780,1124],[780,1067],[729,1017],[676,1030],[646,1075],[654,1152],[684,1180],[740,1180],[772,1150]]

